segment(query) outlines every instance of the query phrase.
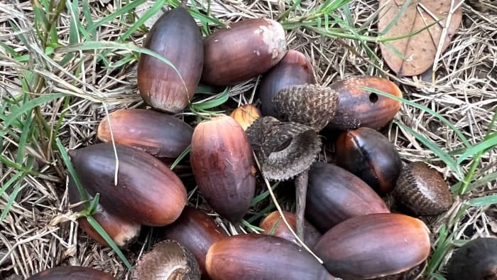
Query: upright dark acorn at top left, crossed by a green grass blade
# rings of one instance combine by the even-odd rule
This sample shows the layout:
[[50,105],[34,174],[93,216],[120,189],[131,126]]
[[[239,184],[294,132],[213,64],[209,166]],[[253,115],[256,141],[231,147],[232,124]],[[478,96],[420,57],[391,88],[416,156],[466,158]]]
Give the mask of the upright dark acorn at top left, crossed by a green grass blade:
[[[153,24],[143,48],[169,60],[142,53],[138,60],[138,89],[143,100],[164,112],[178,113],[190,103],[204,63],[202,33],[185,6],[165,12]],[[178,75],[179,74],[179,75]]]

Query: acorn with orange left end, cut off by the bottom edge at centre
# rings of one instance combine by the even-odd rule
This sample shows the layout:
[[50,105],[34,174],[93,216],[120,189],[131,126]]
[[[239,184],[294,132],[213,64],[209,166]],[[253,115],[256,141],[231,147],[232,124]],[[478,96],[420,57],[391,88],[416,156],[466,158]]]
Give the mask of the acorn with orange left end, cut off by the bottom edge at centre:
[[212,244],[206,267],[212,280],[335,279],[297,244],[271,235],[234,235]]

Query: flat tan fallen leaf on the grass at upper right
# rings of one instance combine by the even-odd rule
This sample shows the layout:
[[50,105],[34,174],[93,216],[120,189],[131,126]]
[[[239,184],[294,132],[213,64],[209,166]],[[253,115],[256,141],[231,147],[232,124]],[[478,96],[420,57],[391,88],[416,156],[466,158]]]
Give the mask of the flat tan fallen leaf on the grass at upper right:
[[[393,21],[397,20],[395,25],[383,35],[383,38],[406,36],[439,21],[415,36],[386,42],[391,45],[390,47],[383,43],[380,45],[386,64],[400,76],[419,75],[428,70],[435,61],[442,33],[445,34],[445,39],[440,53],[447,49],[462,20],[459,5],[461,0],[413,0],[401,16],[398,14],[407,1],[379,0],[379,2],[381,12],[378,31],[383,33]],[[449,15],[451,9],[458,5],[459,8]],[[450,18],[449,24],[447,24],[447,18]],[[446,31],[443,31],[444,26],[447,26]],[[392,47],[402,53],[406,60],[395,53]]]

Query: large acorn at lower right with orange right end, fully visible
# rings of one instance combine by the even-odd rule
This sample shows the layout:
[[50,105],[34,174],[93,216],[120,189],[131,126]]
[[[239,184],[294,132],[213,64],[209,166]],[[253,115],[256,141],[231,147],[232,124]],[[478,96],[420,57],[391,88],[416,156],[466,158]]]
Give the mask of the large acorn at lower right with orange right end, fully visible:
[[430,255],[430,233],[414,217],[378,213],[352,217],[326,232],[314,247],[329,273],[370,279],[407,271]]

